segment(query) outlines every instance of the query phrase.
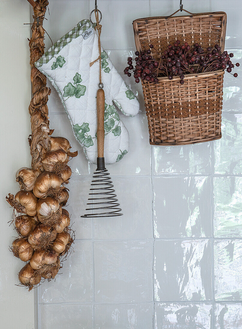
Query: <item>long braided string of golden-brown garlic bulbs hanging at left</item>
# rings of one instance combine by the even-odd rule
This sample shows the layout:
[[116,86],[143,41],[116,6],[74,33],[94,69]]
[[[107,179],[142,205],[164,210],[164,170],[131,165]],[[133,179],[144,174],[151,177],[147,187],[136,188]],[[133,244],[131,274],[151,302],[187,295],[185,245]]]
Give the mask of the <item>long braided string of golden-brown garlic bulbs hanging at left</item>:
[[[67,256],[74,243],[70,215],[63,209],[69,193],[62,195],[65,189],[62,185],[68,184],[69,178],[65,177],[64,181],[62,174],[68,167],[68,161],[77,155],[77,152],[70,152],[67,139],[58,137],[53,143],[54,139],[50,137],[53,130],[49,129],[47,101],[51,90],[46,87],[46,77],[34,66],[44,54],[43,20],[48,1],[36,0],[34,4],[32,37],[29,41],[33,94],[29,105],[32,169],[21,168],[17,171],[16,181],[19,182],[20,191],[15,196],[9,193],[6,197],[14,208],[13,222],[15,220],[15,230],[20,237],[13,241],[10,250],[21,260],[29,261],[18,274],[20,285],[26,286],[29,291],[41,281],[55,278],[63,257]],[[56,168],[59,168],[58,172]],[[56,240],[57,234],[64,234],[65,239]],[[55,250],[64,251],[58,253],[52,248],[53,245]]]

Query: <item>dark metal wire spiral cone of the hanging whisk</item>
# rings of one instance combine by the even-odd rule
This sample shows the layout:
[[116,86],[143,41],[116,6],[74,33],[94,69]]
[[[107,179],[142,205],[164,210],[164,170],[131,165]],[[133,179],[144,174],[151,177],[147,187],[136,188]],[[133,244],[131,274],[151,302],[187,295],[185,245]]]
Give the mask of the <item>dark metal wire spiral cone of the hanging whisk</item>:
[[118,208],[117,195],[113,189],[111,177],[107,169],[105,168],[104,158],[97,159],[97,169],[93,174],[93,180],[90,188],[89,195],[92,202],[88,202],[87,205],[92,205],[92,208],[86,210],[94,211],[94,213],[85,214],[81,217],[113,217],[122,216],[120,212],[121,208]]

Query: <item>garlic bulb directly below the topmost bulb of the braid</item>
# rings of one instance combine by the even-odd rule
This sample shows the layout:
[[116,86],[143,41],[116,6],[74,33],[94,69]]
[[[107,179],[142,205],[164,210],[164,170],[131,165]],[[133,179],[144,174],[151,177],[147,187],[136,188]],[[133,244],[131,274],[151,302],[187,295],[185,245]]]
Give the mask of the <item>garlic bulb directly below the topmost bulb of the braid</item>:
[[49,151],[45,153],[44,159],[42,159],[43,168],[46,171],[56,171],[58,167],[61,167],[68,162],[68,155],[63,150]]

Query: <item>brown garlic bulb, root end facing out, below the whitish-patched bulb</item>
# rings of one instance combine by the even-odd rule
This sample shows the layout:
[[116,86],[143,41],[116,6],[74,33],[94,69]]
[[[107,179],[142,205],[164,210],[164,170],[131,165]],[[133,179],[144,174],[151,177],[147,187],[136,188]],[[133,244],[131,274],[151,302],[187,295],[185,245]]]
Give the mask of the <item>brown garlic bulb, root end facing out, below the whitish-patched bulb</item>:
[[54,227],[39,224],[30,232],[28,241],[34,250],[46,249],[56,238],[56,229]]

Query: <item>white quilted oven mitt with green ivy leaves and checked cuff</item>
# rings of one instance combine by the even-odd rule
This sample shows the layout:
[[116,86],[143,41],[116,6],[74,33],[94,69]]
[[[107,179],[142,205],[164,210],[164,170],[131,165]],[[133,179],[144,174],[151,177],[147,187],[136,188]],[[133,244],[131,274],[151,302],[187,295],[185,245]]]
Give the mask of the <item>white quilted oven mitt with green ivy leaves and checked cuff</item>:
[[[133,91],[102,51],[102,82],[105,91],[105,148],[107,164],[118,162],[129,150],[129,133],[113,105],[129,116],[138,114],[139,103]],[[97,105],[99,84],[98,33],[84,19],[57,41],[35,66],[57,90],[68,114],[77,141],[88,160],[97,160]]]

